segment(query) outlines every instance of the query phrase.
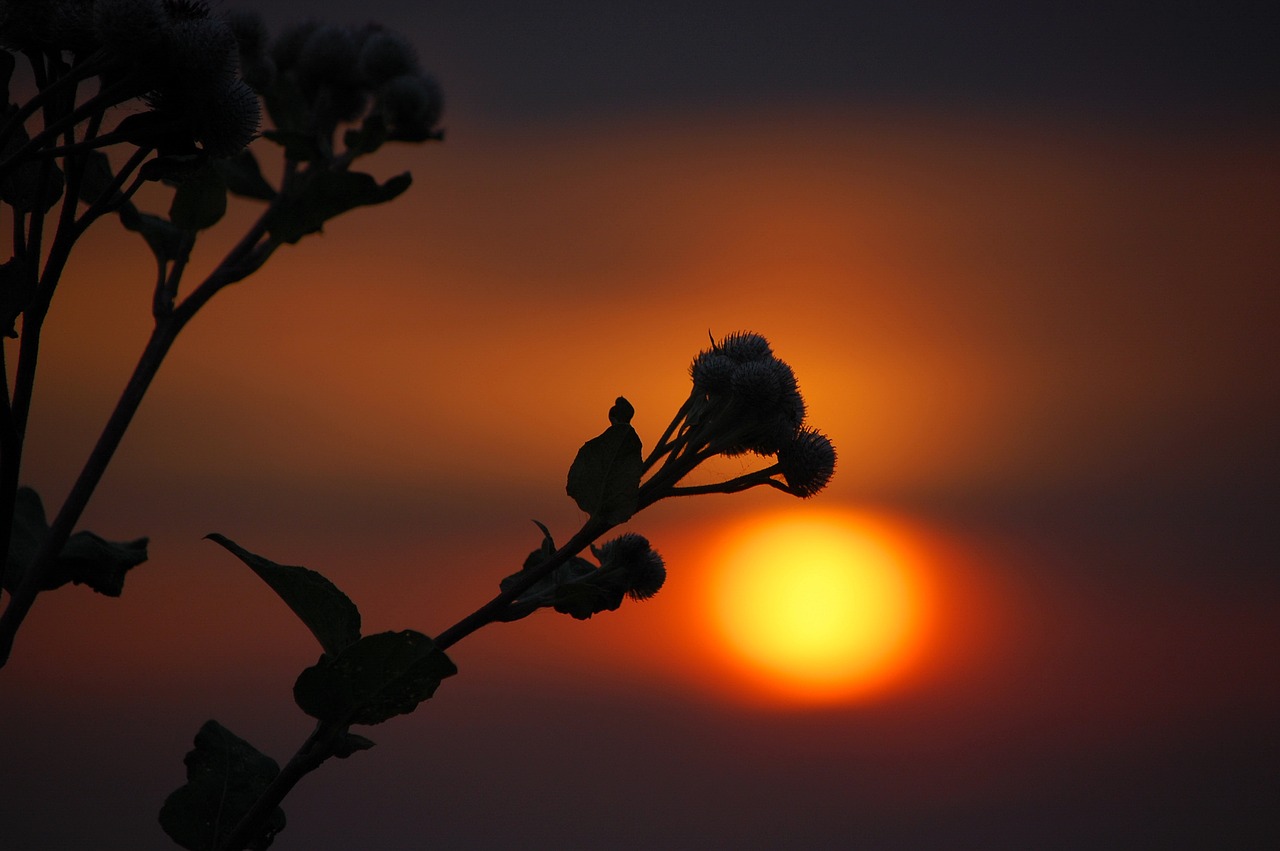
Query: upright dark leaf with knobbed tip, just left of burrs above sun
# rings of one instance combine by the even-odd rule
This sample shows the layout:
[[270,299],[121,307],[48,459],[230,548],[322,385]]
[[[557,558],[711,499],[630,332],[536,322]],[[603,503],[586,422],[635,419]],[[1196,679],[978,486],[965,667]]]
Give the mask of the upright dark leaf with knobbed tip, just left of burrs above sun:
[[564,490],[594,518],[617,525],[636,511],[640,498],[640,435],[631,427],[635,408],[618,397],[609,410],[611,425],[579,449]]

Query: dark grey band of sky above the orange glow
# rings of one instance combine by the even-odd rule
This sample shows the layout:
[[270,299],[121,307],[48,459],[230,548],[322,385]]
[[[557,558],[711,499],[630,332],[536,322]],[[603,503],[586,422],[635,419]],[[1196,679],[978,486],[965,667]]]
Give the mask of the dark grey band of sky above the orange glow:
[[[256,5],[236,4],[228,6]],[[351,20],[271,4],[273,23]],[[511,0],[366,4],[466,114],[844,100],[1120,119],[1272,119],[1280,8],[1262,0]]]

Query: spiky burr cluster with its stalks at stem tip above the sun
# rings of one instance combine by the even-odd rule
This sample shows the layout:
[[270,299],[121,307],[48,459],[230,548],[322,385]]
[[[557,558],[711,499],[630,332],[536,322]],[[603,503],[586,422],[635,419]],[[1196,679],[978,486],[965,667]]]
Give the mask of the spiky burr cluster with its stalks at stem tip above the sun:
[[[831,481],[836,450],[805,425],[805,402],[795,371],[760,334],[739,331],[698,353],[689,367],[692,389],[644,462],[653,471],[641,488],[643,505],[664,497],[733,493],[769,485],[812,497]],[[681,485],[686,473],[714,456],[756,454],[776,463],[710,485]]]

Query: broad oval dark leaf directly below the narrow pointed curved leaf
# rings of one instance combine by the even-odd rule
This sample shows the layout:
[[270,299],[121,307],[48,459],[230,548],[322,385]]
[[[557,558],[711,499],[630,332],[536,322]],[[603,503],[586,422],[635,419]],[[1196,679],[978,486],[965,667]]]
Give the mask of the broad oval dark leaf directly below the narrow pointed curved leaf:
[[413,712],[456,673],[453,662],[421,632],[379,632],[337,656],[321,656],[298,674],[293,699],[320,720],[380,724]]

